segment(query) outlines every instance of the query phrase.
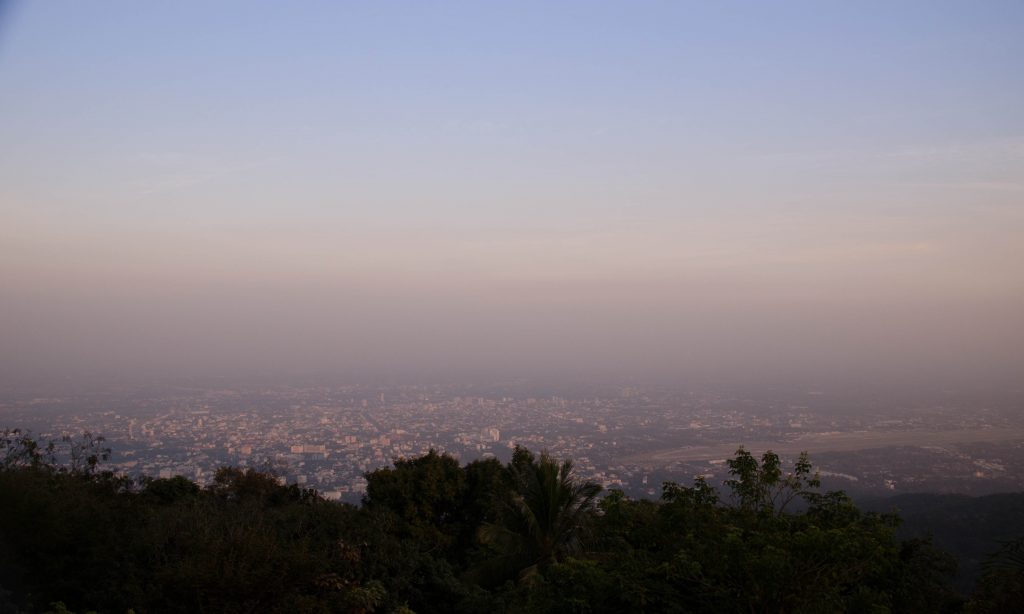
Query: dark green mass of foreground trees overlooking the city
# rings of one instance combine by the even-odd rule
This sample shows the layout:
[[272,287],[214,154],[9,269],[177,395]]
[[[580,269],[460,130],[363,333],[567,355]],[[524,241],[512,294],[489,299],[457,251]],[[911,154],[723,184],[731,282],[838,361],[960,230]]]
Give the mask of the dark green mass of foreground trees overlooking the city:
[[740,448],[722,491],[701,479],[666,483],[655,501],[602,491],[571,462],[523,448],[508,464],[431,451],[368,474],[355,507],[254,469],[221,469],[204,488],[132,480],[102,471],[106,450],[91,437],[43,445],[7,431],[0,446],[0,613],[1006,612],[1024,603],[1019,539],[979,563],[965,595],[952,556],[900,533],[895,514],[821,492],[806,454],[788,466]]

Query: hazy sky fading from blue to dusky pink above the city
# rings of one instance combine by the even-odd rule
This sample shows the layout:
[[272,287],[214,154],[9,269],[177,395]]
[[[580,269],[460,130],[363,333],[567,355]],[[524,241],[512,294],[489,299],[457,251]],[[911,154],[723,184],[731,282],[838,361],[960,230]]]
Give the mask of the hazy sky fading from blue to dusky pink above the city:
[[220,372],[1019,383],[1024,3],[4,2],[0,380]]

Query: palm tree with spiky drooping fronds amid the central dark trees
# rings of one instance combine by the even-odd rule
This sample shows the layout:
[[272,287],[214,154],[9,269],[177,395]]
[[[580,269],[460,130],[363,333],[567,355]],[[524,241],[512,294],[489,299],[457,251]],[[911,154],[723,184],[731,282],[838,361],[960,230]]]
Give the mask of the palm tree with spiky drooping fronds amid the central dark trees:
[[528,579],[583,547],[587,519],[601,486],[572,475],[572,462],[559,464],[546,452],[540,461],[516,450],[509,466],[516,490],[503,518],[480,529],[480,539],[498,549],[498,561]]

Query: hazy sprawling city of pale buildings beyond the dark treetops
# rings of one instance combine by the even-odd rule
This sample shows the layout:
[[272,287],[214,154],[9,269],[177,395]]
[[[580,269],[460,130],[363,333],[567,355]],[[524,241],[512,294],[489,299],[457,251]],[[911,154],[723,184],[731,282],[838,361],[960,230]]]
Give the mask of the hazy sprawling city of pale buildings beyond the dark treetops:
[[756,400],[641,386],[162,386],[11,394],[0,428],[101,435],[113,450],[104,467],[125,475],[207,484],[220,467],[253,467],[349,502],[367,472],[394,458],[436,449],[505,462],[516,445],[640,497],[658,496],[664,481],[721,482],[739,445],[791,461],[808,450],[825,488],[854,495],[1024,489],[1024,419],[1012,402],[892,407],[814,390]]

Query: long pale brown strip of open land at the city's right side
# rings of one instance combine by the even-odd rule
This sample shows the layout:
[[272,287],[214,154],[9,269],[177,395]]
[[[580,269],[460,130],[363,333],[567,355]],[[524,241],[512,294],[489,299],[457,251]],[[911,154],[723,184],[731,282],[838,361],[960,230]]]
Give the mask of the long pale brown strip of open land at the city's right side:
[[849,452],[871,448],[902,446],[933,446],[953,443],[985,441],[1024,441],[1024,429],[971,429],[963,431],[857,431],[853,433],[814,433],[788,441],[736,441],[711,445],[682,446],[651,450],[621,458],[623,463],[649,463],[668,465],[685,461],[715,461],[728,458],[740,445],[756,454],[774,450],[779,454],[798,454],[802,451]]

